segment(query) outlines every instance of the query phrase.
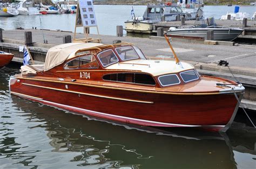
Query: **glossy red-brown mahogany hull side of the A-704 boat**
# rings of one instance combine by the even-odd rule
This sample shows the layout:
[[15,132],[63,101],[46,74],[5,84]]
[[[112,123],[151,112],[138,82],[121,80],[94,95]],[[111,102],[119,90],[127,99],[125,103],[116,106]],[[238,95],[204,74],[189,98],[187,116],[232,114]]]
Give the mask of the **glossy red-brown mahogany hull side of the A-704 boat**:
[[147,126],[223,126],[237,105],[234,94],[154,94],[25,79],[11,79],[10,90],[59,108]]

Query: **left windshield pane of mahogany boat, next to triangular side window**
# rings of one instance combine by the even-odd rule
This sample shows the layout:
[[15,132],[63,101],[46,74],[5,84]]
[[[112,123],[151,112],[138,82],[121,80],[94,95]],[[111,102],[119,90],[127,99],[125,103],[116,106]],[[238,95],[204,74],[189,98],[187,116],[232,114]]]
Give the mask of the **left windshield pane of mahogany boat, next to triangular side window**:
[[116,54],[112,50],[106,50],[97,55],[99,58],[100,62],[104,67],[107,67],[109,65],[112,65],[116,62],[118,62],[118,58]]

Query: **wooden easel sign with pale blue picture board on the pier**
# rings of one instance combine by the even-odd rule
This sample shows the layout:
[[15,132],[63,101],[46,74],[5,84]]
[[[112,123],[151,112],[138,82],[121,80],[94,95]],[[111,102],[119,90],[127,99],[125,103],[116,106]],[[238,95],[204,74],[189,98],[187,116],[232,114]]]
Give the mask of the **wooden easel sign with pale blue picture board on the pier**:
[[[77,27],[83,27],[85,38],[76,39]],[[86,42],[97,41],[100,43],[100,39],[92,39],[88,37],[90,27],[96,27],[99,34],[99,29],[97,26],[97,20],[95,16],[95,10],[93,8],[92,0],[78,0],[77,1],[77,13],[76,13],[76,25],[75,34],[73,42]]]

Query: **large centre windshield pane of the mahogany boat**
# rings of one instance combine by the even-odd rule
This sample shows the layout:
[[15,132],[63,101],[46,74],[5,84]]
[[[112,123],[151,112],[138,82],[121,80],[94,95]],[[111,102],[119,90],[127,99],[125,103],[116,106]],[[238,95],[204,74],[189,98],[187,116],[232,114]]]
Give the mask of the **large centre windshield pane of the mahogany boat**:
[[116,51],[122,60],[131,60],[139,58],[131,46],[117,47]]

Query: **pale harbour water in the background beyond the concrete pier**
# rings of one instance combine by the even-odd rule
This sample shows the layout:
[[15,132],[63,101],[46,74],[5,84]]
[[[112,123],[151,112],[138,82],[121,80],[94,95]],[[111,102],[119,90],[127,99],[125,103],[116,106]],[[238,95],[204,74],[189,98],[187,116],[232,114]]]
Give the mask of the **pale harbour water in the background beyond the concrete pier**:
[[[116,35],[116,26],[123,25],[131,16],[131,5],[95,5],[95,12],[97,24],[100,34]],[[143,16],[146,9],[145,5],[133,6],[136,16]],[[247,12],[252,17],[256,11],[255,6],[240,6],[240,12]],[[234,12],[234,6],[205,6],[204,16],[215,17],[219,19],[227,12]],[[41,15],[41,16],[25,16],[18,15],[16,17],[0,17],[0,28],[4,30],[14,30],[18,27],[23,29],[50,29],[62,31],[75,31],[76,14],[62,14],[62,15]],[[80,27],[78,32],[83,32]],[[96,34],[95,27],[90,29],[91,33]],[[124,31],[124,33],[126,33]]]

